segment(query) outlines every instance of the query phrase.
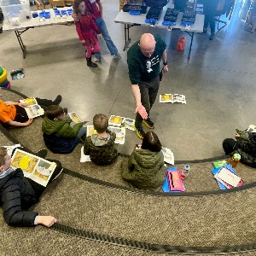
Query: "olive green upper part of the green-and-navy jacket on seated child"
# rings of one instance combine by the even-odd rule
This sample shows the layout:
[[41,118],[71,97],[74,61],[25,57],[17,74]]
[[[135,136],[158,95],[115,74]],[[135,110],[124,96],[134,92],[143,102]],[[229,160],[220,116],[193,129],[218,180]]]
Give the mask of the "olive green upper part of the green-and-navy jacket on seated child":
[[71,122],[72,119],[70,118],[55,121],[44,117],[42,131],[47,135],[57,133],[63,137],[77,137],[79,134],[79,130],[83,126],[83,124],[79,123],[71,127]]

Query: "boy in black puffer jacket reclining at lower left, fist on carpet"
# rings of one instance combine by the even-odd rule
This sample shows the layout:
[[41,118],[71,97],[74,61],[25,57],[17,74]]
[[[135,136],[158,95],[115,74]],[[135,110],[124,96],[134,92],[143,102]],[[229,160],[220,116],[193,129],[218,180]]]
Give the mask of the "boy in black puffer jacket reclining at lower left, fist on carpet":
[[[45,149],[37,153],[42,158],[46,154]],[[56,160],[55,163],[57,166],[50,181],[62,171],[61,163]],[[7,154],[6,148],[0,147],[0,204],[6,223],[10,226],[31,227],[42,224],[51,227],[57,221],[55,217],[39,215],[38,212],[28,210],[39,201],[45,187],[24,177],[21,169],[14,170],[10,166],[11,157]]]

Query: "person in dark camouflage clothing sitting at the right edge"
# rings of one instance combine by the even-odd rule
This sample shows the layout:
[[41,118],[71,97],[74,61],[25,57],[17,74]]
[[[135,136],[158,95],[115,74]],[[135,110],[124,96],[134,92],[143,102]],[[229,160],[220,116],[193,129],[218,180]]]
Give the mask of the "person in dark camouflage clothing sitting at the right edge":
[[235,138],[223,142],[225,154],[240,154],[241,163],[256,168],[256,132],[236,130]]

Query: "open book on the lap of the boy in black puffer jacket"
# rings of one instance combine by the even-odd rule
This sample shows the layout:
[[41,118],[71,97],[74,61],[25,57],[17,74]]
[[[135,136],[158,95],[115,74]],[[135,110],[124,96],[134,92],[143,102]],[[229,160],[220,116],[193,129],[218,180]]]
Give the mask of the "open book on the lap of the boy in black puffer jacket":
[[55,171],[56,164],[17,148],[12,156],[11,167],[14,169],[20,168],[25,177],[46,187]]

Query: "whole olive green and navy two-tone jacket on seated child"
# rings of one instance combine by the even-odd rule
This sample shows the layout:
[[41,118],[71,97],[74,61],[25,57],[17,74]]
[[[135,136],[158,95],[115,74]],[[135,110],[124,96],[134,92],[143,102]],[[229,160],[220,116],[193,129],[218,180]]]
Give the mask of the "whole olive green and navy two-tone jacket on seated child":
[[71,119],[50,120],[44,117],[42,131],[44,143],[53,153],[68,154],[76,147],[74,140],[79,134],[82,123],[70,126]]

